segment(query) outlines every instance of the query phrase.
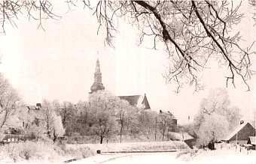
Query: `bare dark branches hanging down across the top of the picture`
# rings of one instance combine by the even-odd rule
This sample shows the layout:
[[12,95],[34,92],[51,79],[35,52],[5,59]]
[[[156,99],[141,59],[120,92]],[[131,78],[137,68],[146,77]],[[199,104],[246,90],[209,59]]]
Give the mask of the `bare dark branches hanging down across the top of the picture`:
[[105,31],[105,42],[112,45],[118,21],[125,18],[137,25],[140,41],[151,40],[154,49],[165,49],[169,54],[167,82],[175,82],[177,91],[184,83],[200,88],[200,73],[209,62],[217,60],[228,68],[227,85],[242,80],[247,89],[251,69],[253,43],[241,46],[235,27],[242,19],[241,3],[255,7],[254,0],[240,1],[90,1],[90,0],[5,0],[0,2],[0,20],[5,32],[6,23],[16,26],[20,16],[38,21],[44,28],[45,19],[60,19],[54,8],[59,3],[69,8],[82,6],[94,11],[99,30]]

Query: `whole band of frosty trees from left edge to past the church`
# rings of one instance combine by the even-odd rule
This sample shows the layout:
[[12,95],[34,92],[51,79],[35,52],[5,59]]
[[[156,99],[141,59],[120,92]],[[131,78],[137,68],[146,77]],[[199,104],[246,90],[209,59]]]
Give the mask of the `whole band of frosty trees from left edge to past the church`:
[[56,141],[59,136],[98,136],[99,142],[119,136],[164,139],[172,115],[130,106],[107,91],[90,95],[88,102],[59,103],[44,100],[41,109],[30,109],[20,101],[17,92],[0,76],[0,130],[9,127],[22,129],[36,139],[47,137]]

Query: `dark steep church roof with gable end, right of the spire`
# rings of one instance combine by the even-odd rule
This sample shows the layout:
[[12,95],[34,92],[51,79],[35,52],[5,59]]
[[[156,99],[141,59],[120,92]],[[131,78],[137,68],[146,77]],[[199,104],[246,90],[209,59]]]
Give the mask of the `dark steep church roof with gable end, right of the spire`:
[[145,106],[145,109],[151,109],[146,94],[144,95],[130,95],[130,96],[118,96],[121,100],[126,100],[131,106]]

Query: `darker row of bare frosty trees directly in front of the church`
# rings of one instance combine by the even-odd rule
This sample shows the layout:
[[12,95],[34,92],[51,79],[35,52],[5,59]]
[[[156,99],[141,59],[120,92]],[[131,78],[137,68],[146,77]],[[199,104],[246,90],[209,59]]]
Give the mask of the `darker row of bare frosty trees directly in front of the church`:
[[89,97],[88,102],[77,104],[53,101],[43,104],[62,118],[66,136],[79,133],[81,136],[98,136],[99,142],[108,141],[113,136],[131,138],[145,136],[146,139],[164,139],[171,124],[172,115],[158,114],[155,111],[130,106],[126,100],[120,100],[107,91],[98,91]]

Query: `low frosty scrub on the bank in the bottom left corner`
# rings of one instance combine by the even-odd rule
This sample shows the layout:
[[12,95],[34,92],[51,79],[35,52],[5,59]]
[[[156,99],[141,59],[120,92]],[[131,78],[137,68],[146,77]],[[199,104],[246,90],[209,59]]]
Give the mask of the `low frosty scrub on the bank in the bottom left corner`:
[[0,146],[0,163],[3,160],[17,161],[59,161],[66,157],[85,158],[93,155],[90,148],[69,148],[53,142],[20,142]]

